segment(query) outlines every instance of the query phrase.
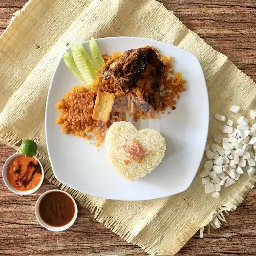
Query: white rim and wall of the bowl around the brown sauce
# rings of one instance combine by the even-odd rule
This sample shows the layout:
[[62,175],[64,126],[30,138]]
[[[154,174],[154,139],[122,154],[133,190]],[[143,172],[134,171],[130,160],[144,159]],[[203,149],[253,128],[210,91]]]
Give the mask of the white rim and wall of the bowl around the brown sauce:
[[[42,218],[41,218],[41,216],[40,216],[40,214],[39,214],[39,203],[40,203],[41,199],[42,199],[46,194],[51,193],[51,192],[53,192],[53,191],[59,191],[59,192],[61,192],[61,193],[65,193],[66,195],[68,195],[68,196],[72,199],[72,201],[73,201],[73,203],[74,203],[74,207],[75,207],[75,214],[74,214],[74,217],[72,218],[72,220],[71,220],[68,224],[66,224],[66,225],[64,225],[64,226],[54,227],[54,226],[48,225],[47,223],[45,223],[45,222],[42,220]],[[76,205],[76,202],[75,202],[74,198],[71,197],[67,192],[62,191],[62,190],[60,190],[60,189],[48,190],[48,191],[46,191],[45,193],[43,193],[43,194],[37,199],[36,204],[35,204],[35,216],[36,216],[36,219],[38,220],[38,222],[39,222],[43,227],[45,227],[46,229],[48,229],[48,230],[50,230],[50,231],[55,231],[55,232],[63,231],[63,230],[66,230],[66,229],[70,228],[70,227],[74,224],[74,222],[75,222],[75,220],[76,220],[76,217],[77,217],[77,205]]]

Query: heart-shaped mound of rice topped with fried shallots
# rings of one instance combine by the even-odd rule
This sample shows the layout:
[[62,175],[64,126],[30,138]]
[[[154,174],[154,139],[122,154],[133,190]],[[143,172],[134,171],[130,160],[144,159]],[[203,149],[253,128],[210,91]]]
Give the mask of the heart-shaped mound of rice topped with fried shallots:
[[159,132],[137,130],[132,123],[120,121],[114,122],[106,133],[105,148],[118,172],[134,181],[150,174],[160,164],[166,144]]

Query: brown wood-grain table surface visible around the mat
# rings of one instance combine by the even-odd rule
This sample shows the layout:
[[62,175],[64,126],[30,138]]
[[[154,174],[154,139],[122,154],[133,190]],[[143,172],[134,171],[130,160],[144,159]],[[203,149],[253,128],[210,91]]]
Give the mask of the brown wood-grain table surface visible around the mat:
[[[255,0],[162,0],[180,20],[239,69],[256,80]],[[26,0],[0,0],[0,33],[10,15]],[[1,60],[0,60],[1,61]],[[2,180],[2,166],[14,151],[0,143],[0,254],[1,255],[146,255],[135,245],[94,220],[79,207],[75,224],[64,232],[50,232],[36,221],[34,205],[41,193],[56,188],[45,181],[31,196],[12,194]],[[256,255],[256,190],[253,189],[227,222],[217,230],[199,233],[177,255]]]

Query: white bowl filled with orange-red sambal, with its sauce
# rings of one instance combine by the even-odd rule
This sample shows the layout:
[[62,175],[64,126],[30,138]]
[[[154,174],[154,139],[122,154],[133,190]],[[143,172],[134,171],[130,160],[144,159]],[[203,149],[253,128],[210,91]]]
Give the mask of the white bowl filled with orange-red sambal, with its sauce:
[[3,179],[13,193],[30,195],[41,186],[44,169],[36,157],[16,153],[6,160],[3,166]]

